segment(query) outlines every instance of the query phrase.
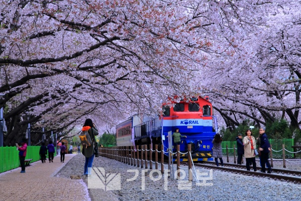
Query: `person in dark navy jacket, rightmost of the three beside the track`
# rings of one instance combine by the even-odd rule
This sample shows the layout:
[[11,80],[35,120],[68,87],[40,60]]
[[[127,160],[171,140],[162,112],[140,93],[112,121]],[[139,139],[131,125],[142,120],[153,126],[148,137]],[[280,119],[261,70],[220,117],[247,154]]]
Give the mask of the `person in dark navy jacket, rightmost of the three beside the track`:
[[267,135],[265,134],[265,127],[261,127],[259,129],[260,134],[260,147],[259,151],[261,154],[261,172],[265,173],[265,164],[267,165],[268,171],[267,173],[271,173],[271,165],[268,162],[268,154],[271,151],[270,144],[267,138]]

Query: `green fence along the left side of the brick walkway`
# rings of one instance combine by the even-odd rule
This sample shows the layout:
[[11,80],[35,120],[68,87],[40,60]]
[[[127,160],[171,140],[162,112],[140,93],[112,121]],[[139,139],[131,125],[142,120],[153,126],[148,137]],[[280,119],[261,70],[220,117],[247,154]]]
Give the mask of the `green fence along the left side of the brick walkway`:
[[[40,146],[28,146],[25,159],[40,160]],[[54,153],[56,156],[56,151]],[[20,166],[19,151],[17,147],[0,147],[0,173],[15,169]]]

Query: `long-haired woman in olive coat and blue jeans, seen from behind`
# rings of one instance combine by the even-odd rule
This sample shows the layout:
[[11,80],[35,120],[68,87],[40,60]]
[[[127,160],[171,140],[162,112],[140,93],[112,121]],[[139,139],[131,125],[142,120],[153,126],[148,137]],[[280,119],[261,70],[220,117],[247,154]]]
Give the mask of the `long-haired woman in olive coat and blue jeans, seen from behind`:
[[83,146],[82,148],[82,153],[86,157],[84,175],[88,177],[88,175],[91,175],[91,168],[94,160],[94,139],[95,139],[94,136],[98,135],[98,130],[96,129],[91,119],[86,119],[82,131],[88,131],[90,138],[92,140],[92,144],[90,146],[88,147]]

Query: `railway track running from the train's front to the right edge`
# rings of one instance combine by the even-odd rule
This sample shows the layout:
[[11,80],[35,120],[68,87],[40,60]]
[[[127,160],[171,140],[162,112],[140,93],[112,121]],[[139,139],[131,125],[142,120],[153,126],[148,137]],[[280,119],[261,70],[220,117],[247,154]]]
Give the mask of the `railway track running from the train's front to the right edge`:
[[[188,165],[187,162],[181,162],[181,164]],[[268,173],[260,172],[260,170],[261,170],[260,167],[257,168],[257,172],[254,172],[254,171],[247,171],[245,169],[245,165],[237,165],[237,164],[230,164],[230,163],[224,163],[224,167],[221,167],[221,166],[217,167],[214,162],[195,163],[194,165],[198,166],[198,167],[204,167],[207,169],[218,169],[218,170],[237,173],[237,174],[244,174],[244,175],[258,176],[258,177],[267,177],[267,178],[272,178],[274,180],[301,184],[301,172],[300,171],[273,169],[272,168],[272,173],[268,174]],[[244,169],[242,169],[242,168],[244,168]],[[279,174],[276,174],[276,173],[279,173]],[[291,176],[282,175],[282,174],[289,174]],[[295,177],[295,176],[299,176],[299,177]]]

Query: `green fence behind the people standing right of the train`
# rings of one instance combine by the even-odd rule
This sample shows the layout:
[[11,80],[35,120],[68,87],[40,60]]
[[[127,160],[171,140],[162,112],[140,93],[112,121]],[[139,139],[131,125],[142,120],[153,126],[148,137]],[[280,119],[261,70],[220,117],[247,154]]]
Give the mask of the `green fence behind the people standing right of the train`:
[[[282,149],[282,144],[284,144],[284,148],[290,152],[293,152],[293,148],[291,148],[291,146],[293,146],[293,139],[281,139],[281,140],[274,140],[274,139],[270,139],[269,140],[272,149],[275,150],[273,151],[273,155],[282,155],[282,151],[281,152],[277,152],[279,150]],[[223,141],[222,142],[222,150],[223,150],[223,154],[227,153],[226,150],[226,145],[228,145],[228,152],[230,155],[233,155],[233,145],[235,145],[235,155],[237,156],[237,143],[236,141]],[[291,156],[293,156],[292,153],[289,153],[287,151],[285,151],[285,154],[289,154]]]

